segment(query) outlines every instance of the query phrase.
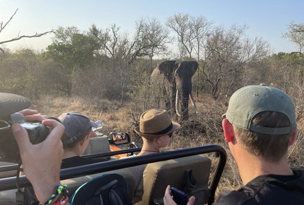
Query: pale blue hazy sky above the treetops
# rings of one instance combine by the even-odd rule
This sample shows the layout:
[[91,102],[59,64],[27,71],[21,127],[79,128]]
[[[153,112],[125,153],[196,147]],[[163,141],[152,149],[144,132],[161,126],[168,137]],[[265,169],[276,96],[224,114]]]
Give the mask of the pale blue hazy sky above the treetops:
[[[86,31],[93,23],[103,29],[115,23],[132,34],[135,21],[142,17],[165,23],[168,17],[182,13],[205,17],[215,26],[247,25],[247,37],[262,38],[270,44],[271,52],[276,53],[297,50],[296,44],[282,34],[287,32],[289,23],[304,23],[303,0],[0,0],[0,22],[6,23],[17,9],[15,17],[0,32],[0,41],[58,26],[76,26]],[[21,39],[1,46],[11,50],[44,50],[52,43],[51,38],[52,35]]]

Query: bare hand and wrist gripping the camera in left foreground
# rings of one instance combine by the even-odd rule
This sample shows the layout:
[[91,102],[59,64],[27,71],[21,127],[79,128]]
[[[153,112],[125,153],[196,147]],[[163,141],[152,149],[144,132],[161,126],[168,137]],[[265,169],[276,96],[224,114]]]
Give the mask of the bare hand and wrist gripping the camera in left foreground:
[[64,126],[53,119],[45,119],[42,124],[50,128],[50,134],[39,144],[31,144],[28,133],[21,124],[12,125],[22,159],[23,172],[41,204],[46,202],[60,182],[61,160],[64,154],[61,135]]

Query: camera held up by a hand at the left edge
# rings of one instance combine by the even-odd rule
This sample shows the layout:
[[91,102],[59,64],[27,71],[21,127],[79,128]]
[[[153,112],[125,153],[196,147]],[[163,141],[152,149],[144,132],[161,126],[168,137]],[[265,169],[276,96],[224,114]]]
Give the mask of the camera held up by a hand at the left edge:
[[15,123],[21,124],[27,130],[32,144],[38,144],[48,136],[48,127],[39,122],[26,121],[21,113],[13,113],[6,119],[0,119],[0,161],[19,162],[19,148],[11,128]]

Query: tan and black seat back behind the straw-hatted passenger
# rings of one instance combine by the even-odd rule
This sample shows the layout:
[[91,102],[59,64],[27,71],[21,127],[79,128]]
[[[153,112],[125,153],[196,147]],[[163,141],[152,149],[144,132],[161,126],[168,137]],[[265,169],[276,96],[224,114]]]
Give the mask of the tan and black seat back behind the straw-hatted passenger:
[[207,204],[210,168],[211,160],[204,155],[148,164],[135,193],[133,204],[163,204],[162,198],[168,185],[194,195],[195,204]]

